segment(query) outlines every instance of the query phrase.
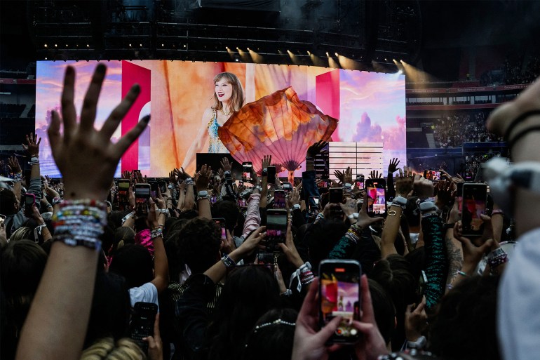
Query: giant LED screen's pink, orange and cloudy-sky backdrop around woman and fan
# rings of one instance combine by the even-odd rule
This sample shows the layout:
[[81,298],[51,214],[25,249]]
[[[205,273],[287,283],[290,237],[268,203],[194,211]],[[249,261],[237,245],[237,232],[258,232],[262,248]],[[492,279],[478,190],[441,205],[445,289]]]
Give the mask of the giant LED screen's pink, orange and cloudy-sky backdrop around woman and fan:
[[[40,151],[43,174],[60,176],[50,153],[46,129],[50,123],[50,110],[60,109],[65,67],[72,65],[76,69],[75,101],[80,113],[96,64],[94,61],[41,61],[37,64],[36,133],[43,138]],[[290,87],[299,100],[311,102],[318,111],[339,120],[331,136],[333,142],[346,142],[349,148],[353,144],[355,149],[363,149],[361,143],[382,144],[383,159],[379,164],[373,164],[373,169],[386,168],[393,157],[400,159],[400,164],[405,164],[403,74],[237,62],[126,60],[107,62],[107,77],[98,103],[95,126],[102,126],[134,83],[141,85],[140,97],[114,133],[112,141],[118,140],[145,114],[151,114],[151,121],[147,131],[123,156],[116,177],[120,176],[121,170],[132,169],[140,169],[149,176],[165,177],[172,168],[180,166],[193,173],[196,168],[196,156],[193,154],[215,149],[210,145],[212,137],[209,131],[212,129],[209,126],[216,88],[213,79],[221,72],[235,74],[241,82],[245,93],[243,109],[250,102]],[[259,154],[278,151],[272,148],[275,144],[260,134],[259,140]],[[302,138],[293,136],[288,141],[288,146],[294,151],[295,141],[302,141]],[[223,149],[218,152],[223,152]],[[358,157],[361,158],[361,154]],[[304,166],[299,164],[295,175],[300,175]]]

